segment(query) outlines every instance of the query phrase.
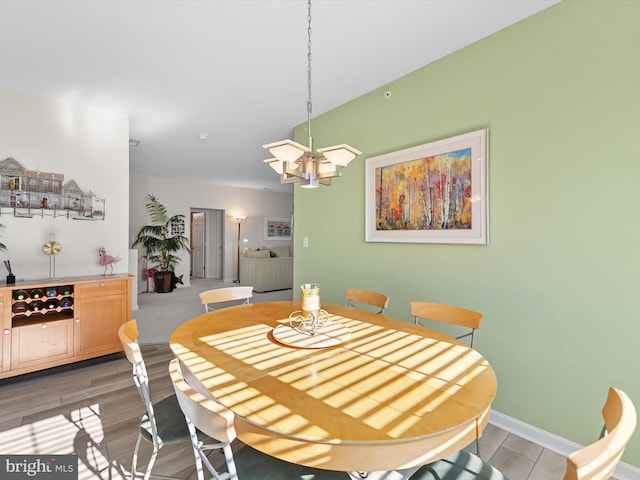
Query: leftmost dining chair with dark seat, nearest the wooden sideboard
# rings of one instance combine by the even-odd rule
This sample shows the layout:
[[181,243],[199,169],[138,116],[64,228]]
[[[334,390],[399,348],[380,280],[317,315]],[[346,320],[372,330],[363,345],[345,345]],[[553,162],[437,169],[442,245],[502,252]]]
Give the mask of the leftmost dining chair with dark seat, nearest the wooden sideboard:
[[[175,395],[170,395],[155,403],[151,401],[149,375],[138,345],[138,325],[136,321],[129,320],[124,323],[118,329],[118,336],[120,337],[124,354],[133,367],[133,380],[147,412],[140,419],[138,439],[136,440],[131,463],[131,478],[137,478],[141,474],[137,470],[137,463],[140,445],[144,439],[153,447],[153,452],[144,472],[144,479],[147,480],[150,477],[171,479],[173,477],[152,475],[151,471],[158,451],[163,446],[191,441],[187,422]],[[200,474],[201,472],[202,465],[200,465]]]

